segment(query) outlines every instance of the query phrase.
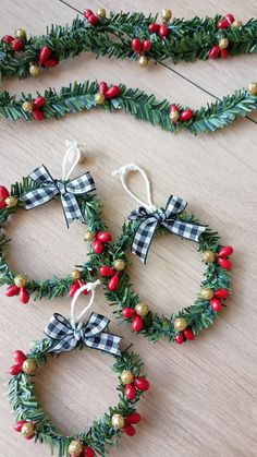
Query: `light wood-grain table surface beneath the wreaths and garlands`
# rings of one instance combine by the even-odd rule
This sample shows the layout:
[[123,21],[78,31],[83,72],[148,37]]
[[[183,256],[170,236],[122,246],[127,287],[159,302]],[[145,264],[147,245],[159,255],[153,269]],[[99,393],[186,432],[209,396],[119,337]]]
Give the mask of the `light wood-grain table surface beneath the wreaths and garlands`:
[[[44,33],[50,23],[72,21],[76,10],[93,10],[95,1],[16,0],[1,1],[0,36],[24,27],[28,33]],[[105,0],[107,10],[132,11],[135,2]],[[138,0],[136,9],[161,11],[167,2]],[[247,21],[256,16],[255,0],[173,1],[175,16],[192,17],[232,12]],[[75,11],[74,11],[75,10]],[[12,80],[2,86],[11,93],[57,88],[85,79],[124,82],[152,92],[159,98],[193,108],[212,101],[257,80],[257,56],[240,56],[224,61],[180,63],[139,69],[135,62],[83,55],[44,72],[36,80]],[[210,94],[207,94],[208,91]],[[257,116],[252,115],[256,121]],[[256,196],[257,124],[248,119],[213,134],[193,136],[188,132],[171,135],[123,115],[91,111],[46,122],[0,122],[0,183],[9,187],[35,167],[45,164],[53,176],[61,173],[65,139],[77,140],[85,147],[89,168],[105,205],[105,218],[114,237],[120,233],[125,215],[135,207],[111,171],[136,161],[149,173],[155,201],[167,202],[171,193],[188,202],[188,211],[216,228],[224,244],[235,248],[233,256],[233,296],[215,326],[203,332],[193,344],[149,345],[143,337],[120,326],[101,290],[94,305],[96,312],[112,320],[111,330],[134,344],[146,363],[151,388],[139,402],[143,420],[133,438],[123,437],[112,456],[154,457],[254,457],[257,455],[256,409]],[[136,175],[133,189],[144,196]],[[8,225],[13,239],[10,265],[36,278],[62,275],[73,264],[85,260],[83,228],[65,229],[60,206],[54,203],[13,217]],[[169,314],[191,303],[201,279],[203,264],[195,245],[176,237],[161,237],[151,246],[147,266],[134,260],[131,268],[135,289],[149,306]],[[30,340],[40,339],[52,312],[69,316],[70,300],[51,302],[19,301],[4,297],[1,289],[1,393],[7,388],[8,369],[15,349],[28,350]],[[83,305],[81,300],[79,305]],[[99,351],[71,352],[40,370],[36,390],[45,410],[62,433],[71,434],[114,405],[118,398],[111,358]],[[50,455],[45,445],[27,443],[13,432],[14,418],[7,397],[0,397],[2,457]]]

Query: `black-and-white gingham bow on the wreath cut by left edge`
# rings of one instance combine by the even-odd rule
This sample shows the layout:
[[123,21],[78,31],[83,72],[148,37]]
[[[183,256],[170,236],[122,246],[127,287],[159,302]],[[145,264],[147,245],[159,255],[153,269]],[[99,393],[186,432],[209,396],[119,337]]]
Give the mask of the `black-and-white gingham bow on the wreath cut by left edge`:
[[39,188],[33,189],[20,197],[25,203],[26,209],[42,205],[52,200],[57,194],[60,194],[68,227],[75,219],[83,220],[76,195],[84,195],[96,190],[94,179],[89,171],[72,181],[63,182],[53,179],[48,169],[41,165],[29,175],[29,178],[38,183]]

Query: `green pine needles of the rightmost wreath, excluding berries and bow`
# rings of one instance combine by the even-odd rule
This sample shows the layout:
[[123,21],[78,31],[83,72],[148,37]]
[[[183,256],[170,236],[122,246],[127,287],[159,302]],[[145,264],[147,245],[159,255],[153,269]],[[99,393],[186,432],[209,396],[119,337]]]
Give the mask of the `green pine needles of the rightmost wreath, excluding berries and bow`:
[[[178,218],[187,223],[199,223],[193,215],[185,212],[178,215]],[[140,223],[138,221],[128,221],[127,224],[124,224],[122,234],[119,237],[118,242],[109,246],[108,252],[105,253],[103,260],[99,258],[99,256],[91,256],[90,266],[96,267],[97,264],[112,266],[115,258],[124,258],[126,265],[130,265],[126,253],[131,249],[135,230],[139,224]],[[158,236],[161,233],[170,232],[167,228],[159,225],[156,234]],[[216,231],[211,231],[207,227],[206,231],[199,237],[198,251],[212,251],[217,253],[220,248],[221,244],[218,233]],[[114,291],[110,291],[108,289],[107,278],[102,278],[102,281],[106,289],[106,298],[113,306],[114,315],[118,320],[130,323],[130,320],[125,320],[122,316],[122,310],[124,308],[134,309],[135,305],[142,301],[138,297],[138,293],[133,290],[130,275],[125,270],[121,272],[119,287]],[[210,288],[212,290],[229,289],[230,272],[221,268],[216,262],[205,264],[204,279],[200,282],[200,288]],[[197,336],[204,328],[208,328],[213,324],[217,315],[217,312],[211,310],[209,301],[206,301],[200,296],[198,296],[195,302],[186,308],[183,308],[176,313],[172,313],[169,317],[149,311],[147,316],[143,317],[144,327],[139,334],[146,336],[151,342],[157,342],[162,337],[164,337],[167,341],[170,342],[174,339],[178,333],[174,329],[174,320],[176,317],[185,318],[187,327],[192,328],[194,334]]]

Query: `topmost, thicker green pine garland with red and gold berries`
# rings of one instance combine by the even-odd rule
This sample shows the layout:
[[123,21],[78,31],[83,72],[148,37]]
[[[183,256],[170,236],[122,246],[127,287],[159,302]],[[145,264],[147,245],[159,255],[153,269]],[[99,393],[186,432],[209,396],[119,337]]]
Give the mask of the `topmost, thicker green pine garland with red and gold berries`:
[[0,44],[2,76],[37,76],[42,69],[56,67],[61,60],[90,51],[99,56],[137,60],[146,67],[170,58],[179,61],[227,58],[229,55],[257,51],[257,21],[246,24],[233,14],[224,17],[174,19],[168,9],[158,15],[143,13],[110,13],[100,8],[97,13],[84,12],[71,25],[52,25],[42,36],[27,38],[19,28],[4,35]]

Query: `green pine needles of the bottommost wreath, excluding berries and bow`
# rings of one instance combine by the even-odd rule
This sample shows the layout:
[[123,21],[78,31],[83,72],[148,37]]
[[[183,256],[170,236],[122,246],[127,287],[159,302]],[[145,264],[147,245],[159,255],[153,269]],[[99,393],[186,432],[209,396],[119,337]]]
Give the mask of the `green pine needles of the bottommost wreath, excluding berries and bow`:
[[[35,359],[37,365],[41,365],[46,363],[48,353],[51,353],[51,346],[52,341],[49,338],[33,341],[30,345],[32,351],[26,357]],[[79,349],[79,342],[76,348]],[[83,445],[90,446],[96,455],[106,456],[106,453],[108,453],[106,447],[114,445],[122,436],[122,431],[113,429],[111,424],[112,414],[120,413],[125,418],[136,410],[136,404],[143,395],[143,392],[137,390],[135,399],[128,400],[124,394],[124,385],[120,380],[121,373],[123,370],[131,370],[135,375],[142,375],[142,368],[143,362],[139,356],[132,351],[124,350],[121,357],[114,357],[112,370],[117,373],[119,380],[117,389],[120,393],[120,399],[118,405],[110,407],[108,412],[95,420],[87,430],[71,436],[61,435],[45,414],[36,398],[35,376],[24,373],[12,376],[9,381],[8,396],[16,420],[35,421],[35,442],[47,443],[52,454],[54,447],[57,447],[59,457],[68,455],[71,441],[79,440]]]

